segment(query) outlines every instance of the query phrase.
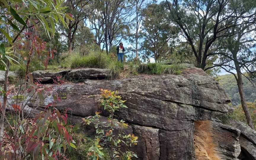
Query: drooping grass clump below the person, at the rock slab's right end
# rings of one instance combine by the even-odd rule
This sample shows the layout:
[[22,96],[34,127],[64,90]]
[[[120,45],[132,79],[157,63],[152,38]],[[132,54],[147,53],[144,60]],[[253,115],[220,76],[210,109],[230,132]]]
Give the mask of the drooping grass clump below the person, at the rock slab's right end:
[[124,69],[124,65],[121,62],[112,60],[108,63],[108,69],[110,69],[108,79],[116,79],[119,78],[120,73]]

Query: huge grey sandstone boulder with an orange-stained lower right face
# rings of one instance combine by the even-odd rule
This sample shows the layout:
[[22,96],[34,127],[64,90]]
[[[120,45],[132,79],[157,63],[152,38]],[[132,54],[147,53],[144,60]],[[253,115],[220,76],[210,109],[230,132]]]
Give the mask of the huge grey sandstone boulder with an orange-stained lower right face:
[[[129,123],[132,133],[139,137],[138,146],[132,148],[139,159],[235,160],[240,153],[239,130],[215,119],[233,111],[228,105],[230,100],[217,81],[199,68],[187,68],[182,75],[141,75],[63,84],[55,89],[62,99],[55,107],[70,108],[71,116],[80,118],[94,115],[95,111],[107,116],[97,102],[101,88],[118,90],[127,99],[128,109],[116,115]],[[47,102],[51,100],[48,98]],[[46,104],[35,102],[39,107]],[[87,130],[92,132],[93,127]]]

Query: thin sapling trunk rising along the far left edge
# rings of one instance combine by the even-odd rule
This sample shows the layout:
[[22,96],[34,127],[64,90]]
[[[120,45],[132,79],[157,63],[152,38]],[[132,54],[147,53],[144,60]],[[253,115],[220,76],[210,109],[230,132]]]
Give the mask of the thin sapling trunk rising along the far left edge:
[[2,143],[4,139],[4,118],[5,118],[5,109],[7,105],[7,87],[8,87],[8,74],[9,74],[10,62],[7,60],[7,70],[5,71],[4,75],[4,99],[3,105],[1,107],[2,114],[0,119],[0,151],[2,151]]

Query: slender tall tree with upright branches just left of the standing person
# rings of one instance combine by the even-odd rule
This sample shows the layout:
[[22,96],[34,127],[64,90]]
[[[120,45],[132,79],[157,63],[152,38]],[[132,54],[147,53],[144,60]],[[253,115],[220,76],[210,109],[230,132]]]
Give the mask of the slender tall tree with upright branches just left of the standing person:
[[99,0],[99,5],[103,17],[101,22],[104,26],[105,48],[108,53],[108,49],[114,42],[118,44],[130,35],[134,2],[131,0]]

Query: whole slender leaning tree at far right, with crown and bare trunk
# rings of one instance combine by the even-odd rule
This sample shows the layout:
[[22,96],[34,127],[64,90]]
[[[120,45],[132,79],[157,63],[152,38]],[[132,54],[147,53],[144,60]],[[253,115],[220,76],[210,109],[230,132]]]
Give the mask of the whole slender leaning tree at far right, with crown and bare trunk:
[[[256,5],[247,5],[243,10],[256,13]],[[218,52],[220,55],[219,64],[216,65],[219,65],[235,77],[247,123],[252,129],[255,129],[246,103],[242,76],[249,79],[252,84],[255,83],[256,14],[243,19],[239,23],[243,23],[244,25],[237,25],[236,27],[230,28],[228,33],[232,36],[222,39],[222,48]]]

